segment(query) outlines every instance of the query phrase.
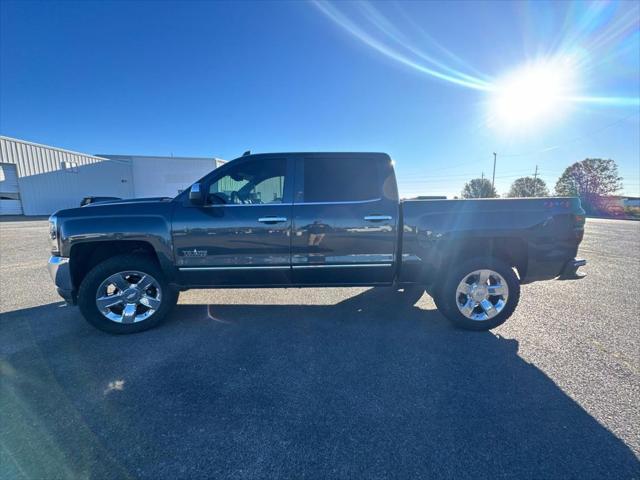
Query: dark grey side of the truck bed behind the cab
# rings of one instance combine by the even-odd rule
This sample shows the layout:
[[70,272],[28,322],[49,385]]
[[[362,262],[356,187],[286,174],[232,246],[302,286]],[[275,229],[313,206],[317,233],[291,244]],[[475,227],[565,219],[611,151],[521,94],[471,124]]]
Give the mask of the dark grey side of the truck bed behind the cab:
[[523,283],[560,275],[582,240],[577,198],[405,200],[400,282],[433,280],[456,257],[503,252]]

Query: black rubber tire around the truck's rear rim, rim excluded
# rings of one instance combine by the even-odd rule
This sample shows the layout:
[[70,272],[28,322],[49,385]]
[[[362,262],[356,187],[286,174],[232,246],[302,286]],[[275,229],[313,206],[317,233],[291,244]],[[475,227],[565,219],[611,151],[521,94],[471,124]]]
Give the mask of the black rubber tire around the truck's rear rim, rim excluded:
[[[467,318],[458,309],[457,288],[460,282],[471,272],[476,270],[493,270],[504,278],[509,295],[506,304],[500,313],[487,320],[472,320]],[[462,297],[464,298],[464,296]],[[494,297],[492,297],[494,298]],[[472,258],[453,268],[445,278],[442,288],[439,289],[435,298],[436,306],[442,314],[447,317],[455,326],[465,330],[491,330],[502,325],[516,309],[520,300],[520,281],[513,269],[505,262],[493,257]]]

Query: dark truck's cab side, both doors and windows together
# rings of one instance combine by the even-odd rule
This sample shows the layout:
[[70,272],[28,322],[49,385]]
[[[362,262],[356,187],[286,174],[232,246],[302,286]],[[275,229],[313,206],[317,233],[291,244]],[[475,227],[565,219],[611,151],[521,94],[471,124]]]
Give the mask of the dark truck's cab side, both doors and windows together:
[[172,217],[181,284],[393,282],[399,204],[385,154],[252,155],[194,187]]

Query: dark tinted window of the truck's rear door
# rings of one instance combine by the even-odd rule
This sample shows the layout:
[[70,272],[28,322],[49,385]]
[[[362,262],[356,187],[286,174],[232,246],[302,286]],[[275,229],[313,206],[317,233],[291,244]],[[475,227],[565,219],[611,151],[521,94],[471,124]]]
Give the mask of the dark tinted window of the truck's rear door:
[[367,158],[304,160],[304,202],[353,202],[380,197],[378,164]]

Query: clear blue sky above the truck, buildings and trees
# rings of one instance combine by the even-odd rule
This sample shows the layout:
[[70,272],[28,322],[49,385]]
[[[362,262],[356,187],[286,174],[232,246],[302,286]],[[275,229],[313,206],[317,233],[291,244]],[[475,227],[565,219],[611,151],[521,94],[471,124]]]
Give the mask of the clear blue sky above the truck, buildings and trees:
[[[553,187],[569,164],[605,157],[624,192],[640,195],[638,2],[1,9],[3,135],[226,159],[385,151],[404,195],[459,194],[491,175],[494,151],[500,193],[536,165]],[[521,73],[532,69],[542,77]],[[552,100],[540,97],[540,78],[555,82]]]

